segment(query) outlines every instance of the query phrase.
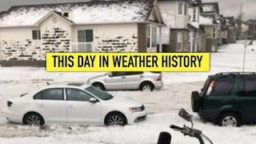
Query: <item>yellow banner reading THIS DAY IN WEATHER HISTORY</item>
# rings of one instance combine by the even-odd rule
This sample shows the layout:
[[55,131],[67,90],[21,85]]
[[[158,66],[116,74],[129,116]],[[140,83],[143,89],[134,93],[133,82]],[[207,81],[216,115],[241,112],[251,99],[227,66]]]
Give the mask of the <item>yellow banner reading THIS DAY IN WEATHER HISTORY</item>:
[[47,71],[210,71],[209,53],[47,53]]

